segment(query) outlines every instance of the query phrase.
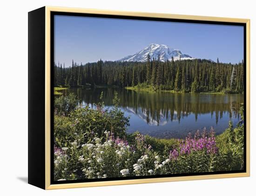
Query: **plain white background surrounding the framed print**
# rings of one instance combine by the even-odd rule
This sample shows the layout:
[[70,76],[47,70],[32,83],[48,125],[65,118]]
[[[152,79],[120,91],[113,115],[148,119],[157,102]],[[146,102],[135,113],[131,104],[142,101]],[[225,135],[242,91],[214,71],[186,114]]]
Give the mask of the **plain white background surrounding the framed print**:
[[[253,0],[2,0],[0,6],[0,195],[255,195],[256,11]],[[27,184],[27,12],[41,6],[251,19],[251,177],[69,190]],[[39,87],[40,88],[40,87]]]

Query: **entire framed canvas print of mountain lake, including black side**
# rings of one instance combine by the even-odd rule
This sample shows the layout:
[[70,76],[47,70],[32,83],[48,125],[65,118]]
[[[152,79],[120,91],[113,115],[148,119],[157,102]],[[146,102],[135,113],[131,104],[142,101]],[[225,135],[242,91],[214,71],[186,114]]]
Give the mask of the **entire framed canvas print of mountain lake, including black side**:
[[249,19],[28,13],[28,183],[249,176]]

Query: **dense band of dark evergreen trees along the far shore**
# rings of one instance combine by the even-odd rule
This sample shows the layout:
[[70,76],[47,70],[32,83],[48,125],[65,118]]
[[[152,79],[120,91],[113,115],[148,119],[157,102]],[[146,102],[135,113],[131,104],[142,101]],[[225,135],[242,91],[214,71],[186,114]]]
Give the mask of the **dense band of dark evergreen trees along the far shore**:
[[236,92],[243,93],[242,63],[220,63],[205,60],[171,60],[160,58],[147,62],[102,60],[65,68],[54,65],[54,86],[80,87],[108,85],[179,92]]

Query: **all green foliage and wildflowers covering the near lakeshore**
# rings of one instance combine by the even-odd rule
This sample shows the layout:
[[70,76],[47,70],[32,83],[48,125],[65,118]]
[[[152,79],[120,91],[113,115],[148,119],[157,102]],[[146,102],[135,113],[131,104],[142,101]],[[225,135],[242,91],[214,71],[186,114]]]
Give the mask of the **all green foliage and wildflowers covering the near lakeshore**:
[[[58,103],[61,101],[69,103],[63,98]],[[243,109],[240,124],[236,128],[230,124],[217,138],[213,130],[204,130],[184,140],[167,140],[139,132],[127,134],[129,120],[118,108],[117,94],[113,103],[115,107],[110,109],[104,109],[100,101],[94,108],[55,113],[55,180],[243,169]]]

